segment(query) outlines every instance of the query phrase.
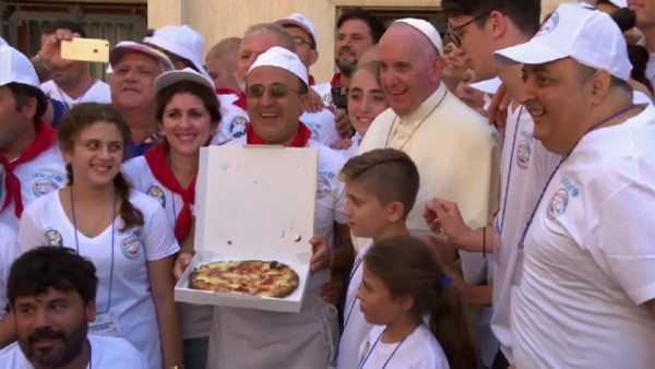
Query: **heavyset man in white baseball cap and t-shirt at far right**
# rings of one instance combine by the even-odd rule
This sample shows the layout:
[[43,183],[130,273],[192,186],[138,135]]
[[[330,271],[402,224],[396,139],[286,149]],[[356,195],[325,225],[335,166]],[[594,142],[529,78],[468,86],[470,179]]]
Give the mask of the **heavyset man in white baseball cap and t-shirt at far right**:
[[562,4],[495,58],[523,64],[534,138],[563,157],[514,246],[516,368],[655,368],[655,107],[633,104],[621,31]]

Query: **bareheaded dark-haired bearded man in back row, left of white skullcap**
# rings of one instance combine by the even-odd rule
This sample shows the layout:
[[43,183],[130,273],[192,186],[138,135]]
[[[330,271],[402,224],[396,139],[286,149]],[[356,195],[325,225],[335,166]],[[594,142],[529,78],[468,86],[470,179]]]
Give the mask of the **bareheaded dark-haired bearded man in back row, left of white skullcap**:
[[[360,8],[343,13],[336,22],[336,28],[338,31],[334,62],[338,72],[330,82],[313,86],[325,104],[333,103],[333,87],[350,85],[350,76],[357,69],[357,61],[371,46],[378,45],[385,31],[384,23],[379,17]],[[353,134],[353,126],[345,109],[336,109],[336,128],[342,138],[349,138]]]

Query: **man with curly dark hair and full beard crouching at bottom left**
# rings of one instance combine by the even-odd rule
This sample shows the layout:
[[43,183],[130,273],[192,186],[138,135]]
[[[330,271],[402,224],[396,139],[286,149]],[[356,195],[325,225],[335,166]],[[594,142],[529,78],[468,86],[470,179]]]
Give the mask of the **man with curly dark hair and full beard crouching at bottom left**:
[[40,247],[16,259],[7,295],[19,341],[0,352],[0,367],[147,368],[126,340],[87,335],[97,282],[93,263],[69,248]]

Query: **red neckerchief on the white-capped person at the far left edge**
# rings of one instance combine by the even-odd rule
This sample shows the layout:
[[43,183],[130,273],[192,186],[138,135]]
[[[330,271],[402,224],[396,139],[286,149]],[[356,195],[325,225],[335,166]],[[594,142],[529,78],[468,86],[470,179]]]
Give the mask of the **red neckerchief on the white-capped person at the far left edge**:
[[[29,123],[32,124],[32,123]],[[7,206],[14,201],[14,214],[16,217],[21,217],[23,214],[23,197],[21,193],[21,180],[14,174],[14,169],[23,164],[33,160],[40,154],[43,154],[46,150],[52,147],[52,145],[57,142],[57,131],[50,127],[50,124],[46,124],[45,122],[39,122],[36,128],[36,138],[25,150],[21,156],[16,157],[14,160],[10,162],[4,155],[0,155],[0,163],[4,166],[4,171],[7,172],[7,180],[4,181],[7,188],[7,198],[4,199],[4,203],[2,204],[2,209],[0,212],[3,212]]]

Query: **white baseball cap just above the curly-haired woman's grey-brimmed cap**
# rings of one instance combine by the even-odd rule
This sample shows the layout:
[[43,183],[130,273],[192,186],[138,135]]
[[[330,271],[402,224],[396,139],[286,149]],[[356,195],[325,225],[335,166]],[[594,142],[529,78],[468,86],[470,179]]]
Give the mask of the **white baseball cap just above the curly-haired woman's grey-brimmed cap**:
[[[200,73],[207,74],[202,62],[204,37],[188,25],[163,26],[143,41],[188,59]],[[209,74],[206,76],[210,78]]]

